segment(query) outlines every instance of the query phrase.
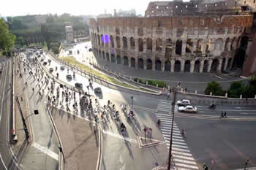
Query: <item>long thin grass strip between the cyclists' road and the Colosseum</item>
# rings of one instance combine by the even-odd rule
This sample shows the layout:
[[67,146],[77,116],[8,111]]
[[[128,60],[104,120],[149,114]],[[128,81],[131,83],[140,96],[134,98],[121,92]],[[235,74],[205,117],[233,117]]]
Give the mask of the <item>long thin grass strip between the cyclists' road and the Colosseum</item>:
[[146,89],[143,89],[143,88],[135,88],[134,86],[132,85],[127,85],[126,83],[124,82],[119,82],[118,80],[112,78],[112,77],[109,77],[108,75],[106,74],[102,74],[94,69],[90,69],[89,66],[86,66],[84,65],[83,63],[79,63],[78,61],[75,60],[74,57],[72,56],[69,56],[69,57],[60,57],[59,59],[61,59],[62,61],[65,61],[65,62],[68,62],[69,64],[73,65],[73,66],[77,66],[78,68],[80,69],[83,69],[85,70],[86,72],[91,72],[91,74],[94,74],[96,75],[97,77],[100,77],[101,79],[104,79],[104,80],[107,80],[108,82],[112,82],[113,84],[116,84],[116,85],[121,85],[121,86],[124,86],[126,88],[132,88],[132,89],[136,89],[136,90],[143,90],[143,91],[147,91],[147,92],[151,92],[151,93],[155,93],[154,91],[151,91],[151,90],[146,90]]

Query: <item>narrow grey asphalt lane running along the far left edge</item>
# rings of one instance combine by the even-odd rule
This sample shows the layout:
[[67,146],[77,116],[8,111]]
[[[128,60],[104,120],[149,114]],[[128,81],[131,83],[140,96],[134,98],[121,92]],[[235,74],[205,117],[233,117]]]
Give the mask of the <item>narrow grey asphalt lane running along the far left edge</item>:
[[12,62],[10,59],[1,61],[0,74],[0,169],[20,169],[10,145],[11,104],[12,104]]

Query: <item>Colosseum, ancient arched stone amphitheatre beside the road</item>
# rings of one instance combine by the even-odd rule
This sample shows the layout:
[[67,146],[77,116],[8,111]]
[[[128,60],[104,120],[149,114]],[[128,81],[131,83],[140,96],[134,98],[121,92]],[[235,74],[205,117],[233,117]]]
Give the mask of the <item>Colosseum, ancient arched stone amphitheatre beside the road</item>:
[[145,17],[90,20],[94,55],[135,69],[242,69],[252,46],[255,0],[153,1]]

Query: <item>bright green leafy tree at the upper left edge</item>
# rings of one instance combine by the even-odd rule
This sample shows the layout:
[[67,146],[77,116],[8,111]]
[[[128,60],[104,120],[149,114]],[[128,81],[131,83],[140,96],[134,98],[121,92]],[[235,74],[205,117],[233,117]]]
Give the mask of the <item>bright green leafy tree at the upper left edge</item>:
[[0,19],[0,48],[6,52],[10,52],[15,45],[16,36],[10,34],[7,23]]

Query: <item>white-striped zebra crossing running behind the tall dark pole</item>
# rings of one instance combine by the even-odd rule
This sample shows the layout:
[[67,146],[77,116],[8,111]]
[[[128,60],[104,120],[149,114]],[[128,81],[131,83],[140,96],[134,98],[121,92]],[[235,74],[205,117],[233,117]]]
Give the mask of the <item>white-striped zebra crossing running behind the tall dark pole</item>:
[[[159,112],[163,111],[163,112]],[[166,112],[171,112],[170,101],[160,101],[157,106],[156,116],[161,120],[161,131],[164,136],[167,149],[170,146],[170,133],[172,126],[172,116]],[[187,147],[184,141],[184,136],[181,135],[181,131],[178,129],[178,125],[173,122],[173,144],[172,144],[173,161],[176,165],[176,169],[192,170],[199,169],[195,159],[193,158],[189,147]]]

